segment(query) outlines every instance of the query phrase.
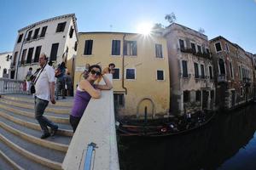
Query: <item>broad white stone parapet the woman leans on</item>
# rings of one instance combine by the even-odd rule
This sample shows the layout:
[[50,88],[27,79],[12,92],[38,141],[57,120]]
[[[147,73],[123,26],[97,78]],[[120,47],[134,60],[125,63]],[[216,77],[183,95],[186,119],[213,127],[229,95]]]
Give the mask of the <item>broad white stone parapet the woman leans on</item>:
[[[112,80],[111,75],[108,76]],[[119,170],[113,90],[90,99],[62,163],[65,170]]]

